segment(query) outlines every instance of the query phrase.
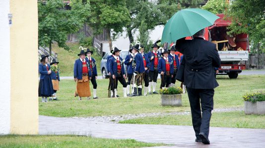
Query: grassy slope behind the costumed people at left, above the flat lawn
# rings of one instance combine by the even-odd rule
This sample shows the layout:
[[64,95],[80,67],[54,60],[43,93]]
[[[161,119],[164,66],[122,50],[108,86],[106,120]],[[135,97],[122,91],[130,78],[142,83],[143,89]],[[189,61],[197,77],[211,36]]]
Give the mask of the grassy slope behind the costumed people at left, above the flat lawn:
[[[80,53],[80,45],[79,43],[66,44],[70,47],[69,51],[65,50],[64,48],[60,48],[57,44],[52,44],[52,50],[55,53],[58,53],[58,62],[60,62],[58,64],[60,68],[60,76],[73,76],[73,65],[74,61],[79,58],[77,54]],[[99,56],[95,51],[93,52],[92,57],[96,60],[98,75],[101,75],[100,61],[102,57]]]

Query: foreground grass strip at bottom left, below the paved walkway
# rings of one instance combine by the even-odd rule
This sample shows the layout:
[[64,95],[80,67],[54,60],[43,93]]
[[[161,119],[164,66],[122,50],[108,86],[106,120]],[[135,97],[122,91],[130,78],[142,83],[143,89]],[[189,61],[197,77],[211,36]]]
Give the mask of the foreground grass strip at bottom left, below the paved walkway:
[[86,136],[0,136],[0,148],[142,148],[165,146],[136,142],[133,139],[114,140]]

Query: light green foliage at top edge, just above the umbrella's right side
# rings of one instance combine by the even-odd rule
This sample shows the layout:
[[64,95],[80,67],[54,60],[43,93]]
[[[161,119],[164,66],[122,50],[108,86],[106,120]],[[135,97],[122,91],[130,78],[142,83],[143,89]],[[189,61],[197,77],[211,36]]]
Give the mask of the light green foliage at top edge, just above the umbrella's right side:
[[208,0],[205,5],[201,8],[204,10],[208,10],[214,14],[224,13],[228,8],[229,3],[227,0]]

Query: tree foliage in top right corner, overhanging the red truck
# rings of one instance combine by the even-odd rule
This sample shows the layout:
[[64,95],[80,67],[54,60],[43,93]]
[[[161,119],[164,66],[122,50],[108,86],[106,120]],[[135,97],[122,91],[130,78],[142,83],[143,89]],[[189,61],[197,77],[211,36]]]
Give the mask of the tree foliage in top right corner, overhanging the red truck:
[[264,0],[233,0],[225,14],[232,20],[230,34],[249,34],[253,51],[265,52]]

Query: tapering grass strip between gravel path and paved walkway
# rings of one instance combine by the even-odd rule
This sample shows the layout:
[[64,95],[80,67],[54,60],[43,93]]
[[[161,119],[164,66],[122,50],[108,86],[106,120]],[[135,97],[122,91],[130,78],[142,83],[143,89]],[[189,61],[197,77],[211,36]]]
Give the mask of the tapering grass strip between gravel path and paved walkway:
[[[192,115],[167,115],[120,121],[131,124],[191,125]],[[265,115],[246,115],[244,111],[213,112],[210,126],[237,128],[265,128]]]

